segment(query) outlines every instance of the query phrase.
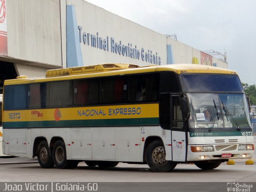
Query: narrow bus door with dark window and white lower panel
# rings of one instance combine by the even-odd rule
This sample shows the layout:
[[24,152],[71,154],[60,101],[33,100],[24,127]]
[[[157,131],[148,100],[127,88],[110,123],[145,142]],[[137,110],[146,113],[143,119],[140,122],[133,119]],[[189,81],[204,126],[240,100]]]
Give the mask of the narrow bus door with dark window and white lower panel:
[[171,97],[172,161],[186,161],[186,127],[180,96]]

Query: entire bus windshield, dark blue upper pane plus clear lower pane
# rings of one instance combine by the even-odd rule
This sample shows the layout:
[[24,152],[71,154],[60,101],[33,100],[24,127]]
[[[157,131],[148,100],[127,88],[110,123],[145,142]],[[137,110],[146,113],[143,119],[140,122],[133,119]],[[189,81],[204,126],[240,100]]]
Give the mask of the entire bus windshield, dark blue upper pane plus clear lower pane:
[[238,76],[182,74],[181,82],[190,104],[190,128],[212,131],[250,127],[246,97]]

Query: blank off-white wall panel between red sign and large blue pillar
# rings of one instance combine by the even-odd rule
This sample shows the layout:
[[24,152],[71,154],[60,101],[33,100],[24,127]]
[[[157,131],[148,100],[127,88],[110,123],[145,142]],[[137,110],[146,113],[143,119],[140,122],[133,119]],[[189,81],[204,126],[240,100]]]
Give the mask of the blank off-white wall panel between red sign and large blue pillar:
[[8,57],[62,66],[60,1],[7,0],[6,9]]

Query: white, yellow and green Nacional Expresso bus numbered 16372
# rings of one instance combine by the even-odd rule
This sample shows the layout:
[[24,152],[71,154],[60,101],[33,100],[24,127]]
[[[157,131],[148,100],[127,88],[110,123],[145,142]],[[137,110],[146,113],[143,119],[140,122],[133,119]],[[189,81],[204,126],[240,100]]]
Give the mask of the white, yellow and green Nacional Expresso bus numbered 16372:
[[[209,118],[205,112],[208,111]],[[99,64],[4,81],[4,154],[42,168],[252,158],[249,105],[235,71],[196,64]]]

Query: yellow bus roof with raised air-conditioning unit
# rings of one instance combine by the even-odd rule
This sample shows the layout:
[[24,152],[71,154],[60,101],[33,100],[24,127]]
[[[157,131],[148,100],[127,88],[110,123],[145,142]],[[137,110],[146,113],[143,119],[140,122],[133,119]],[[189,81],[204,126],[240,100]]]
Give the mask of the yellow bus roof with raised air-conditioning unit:
[[48,70],[46,72],[46,78],[32,79],[26,78],[26,76],[18,76],[17,79],[5,80],[4,84],[17,84],[18,82],[19,84],[24,84],[33,82],[48,82],[53,80],[92,78],[100,76],[115,76],[123,74],[139,74],[161,71],[172,71],[177,74],[237,74],[233,70],[199,64],[169,64],[160,66],[140,67],[134,64],[105,63],[93,66],[81,66]]

